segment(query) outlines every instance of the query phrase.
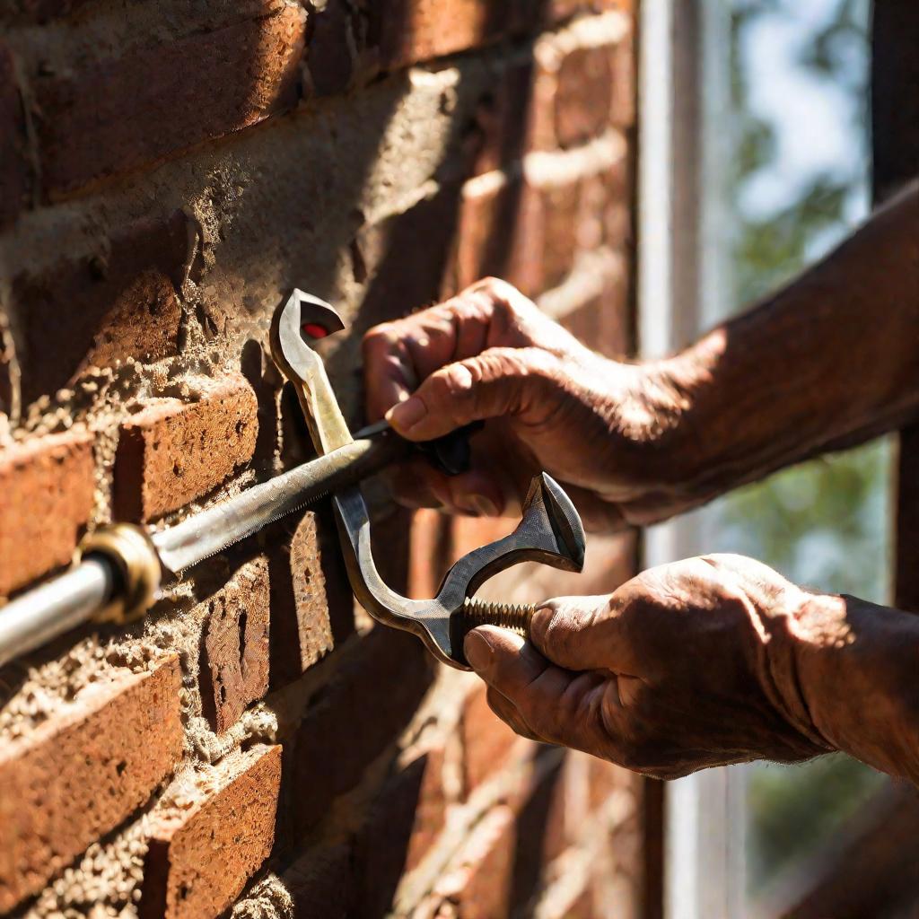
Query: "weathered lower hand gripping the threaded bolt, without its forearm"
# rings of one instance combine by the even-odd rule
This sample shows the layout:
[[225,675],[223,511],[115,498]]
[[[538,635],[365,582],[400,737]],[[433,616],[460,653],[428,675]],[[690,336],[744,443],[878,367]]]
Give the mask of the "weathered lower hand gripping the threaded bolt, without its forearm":
[[714,555],[653,568],[611,596],[551,600],[534,644],[474,630],[466,655],[495,713],[536,740],[663,778],[795,762],[832,748],[798,681],[794,636],[824,621],[811,601],[766,565]]

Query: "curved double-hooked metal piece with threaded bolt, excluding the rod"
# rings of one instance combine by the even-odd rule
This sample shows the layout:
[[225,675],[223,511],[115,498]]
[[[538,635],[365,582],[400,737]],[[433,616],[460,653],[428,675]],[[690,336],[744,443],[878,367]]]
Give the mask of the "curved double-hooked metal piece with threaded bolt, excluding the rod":
[[[323,362],[311,347],[344,327],[332,306],[301,290],[293,291],[272,323],[272,352],[297,390],[313,446],[320,454],[345,449],[353,442]],[[584,565],[581,519],[568,495],[545,473],[530,485],[523,519],[515,531],[456,562],[430,600],[409,599],[383,583],[370,549],[370,522],[360,489],[336,491],[333,501],[357,600],[385,625],[417,635],[440,661],[454,667],[469,669],[462,640],[475,626],[498,625],[528,634],[535,607],[474,599],[490,577],[517,562],[543,562],[566,571],[580,571]]]

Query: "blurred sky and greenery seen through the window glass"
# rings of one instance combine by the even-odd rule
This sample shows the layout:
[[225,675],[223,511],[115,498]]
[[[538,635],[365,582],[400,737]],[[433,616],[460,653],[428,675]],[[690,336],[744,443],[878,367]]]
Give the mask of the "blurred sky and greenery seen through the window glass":
[[[732,0],[730,274],[737,307],[824,255],[869,207],[868,0]],[[708,317],[707,317],[708,318]],[[709,508],[711,550],[890,600],[891,445],[818,459]],[[885,779],[843,755],[745,772],[747,899],[782,899]]]

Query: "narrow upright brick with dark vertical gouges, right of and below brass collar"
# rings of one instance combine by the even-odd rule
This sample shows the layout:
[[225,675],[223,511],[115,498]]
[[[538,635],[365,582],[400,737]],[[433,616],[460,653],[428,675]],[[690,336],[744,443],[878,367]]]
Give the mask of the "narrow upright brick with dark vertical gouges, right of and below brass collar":
[[269,608],[264,557],[247,562],[208,601],[199,679],[204,713],[218,733],[268,691]]

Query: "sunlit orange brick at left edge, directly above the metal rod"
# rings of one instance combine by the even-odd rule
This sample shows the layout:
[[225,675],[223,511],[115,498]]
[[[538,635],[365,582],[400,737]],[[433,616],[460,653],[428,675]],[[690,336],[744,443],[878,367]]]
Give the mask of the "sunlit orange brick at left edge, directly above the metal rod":
[[95,488],[83,429],[0,450],[0,595],[70,562]]

